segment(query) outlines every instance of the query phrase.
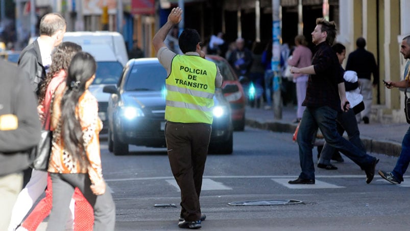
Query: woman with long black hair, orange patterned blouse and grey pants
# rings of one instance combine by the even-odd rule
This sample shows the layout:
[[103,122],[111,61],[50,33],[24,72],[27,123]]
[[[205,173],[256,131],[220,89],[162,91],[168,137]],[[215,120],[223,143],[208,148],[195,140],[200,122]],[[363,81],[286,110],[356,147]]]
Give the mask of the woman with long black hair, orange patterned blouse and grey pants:
[[93,230],[114,230],[115,205],[102,175],[99,143],[102,122],[97,99],[88,90],[96,69],[97,63],[90,54],[77,53],[68,68],[63,97],[56,97],[52,105],[54,133],[49,172],[53,208],[47,230],[64,230],[75,187],[94,209]]

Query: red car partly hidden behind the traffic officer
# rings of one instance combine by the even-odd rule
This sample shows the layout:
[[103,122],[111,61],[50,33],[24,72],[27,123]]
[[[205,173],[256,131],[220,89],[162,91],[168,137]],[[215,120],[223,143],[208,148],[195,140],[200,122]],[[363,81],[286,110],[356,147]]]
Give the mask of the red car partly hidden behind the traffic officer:
[[218,65],[219,70],[224,77],[222,92],[231,105],[233,127],[235,131],[243,131],[245,129],[246,98],[242,84],[239,83],[231,65],[223,57],[207,55],[206,59]]

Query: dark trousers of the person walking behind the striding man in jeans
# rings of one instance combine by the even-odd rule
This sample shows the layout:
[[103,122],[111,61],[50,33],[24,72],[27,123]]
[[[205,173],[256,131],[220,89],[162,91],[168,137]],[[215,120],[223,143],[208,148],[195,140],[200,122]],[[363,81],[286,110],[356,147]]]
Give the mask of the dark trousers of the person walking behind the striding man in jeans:
[[[360,140],[360,132],[357,127],[356,115],[354,114],[353,109],[338,113],[336,122],[339,134],[343,135],[343,132],[346,131],[349,136],[349,141],[357,148],[366,152],[366,148]],[[337,149],[325,142],[322,152],[320,153],[319,164],[329,165],[330,159],[335,151],[337,151]]]

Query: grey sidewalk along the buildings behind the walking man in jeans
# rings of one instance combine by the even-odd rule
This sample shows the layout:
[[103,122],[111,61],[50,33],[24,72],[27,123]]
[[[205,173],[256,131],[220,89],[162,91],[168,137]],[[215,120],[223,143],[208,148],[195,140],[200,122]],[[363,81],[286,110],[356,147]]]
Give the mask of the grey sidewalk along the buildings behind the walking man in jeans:
[[[296,107],[288,105],[282,107],[282,119],[275,119],[273,109],[264,110],[261,108],[246,107],[246,125],[259,129],[266,129],[275,132],[287,132],[289,139],[297,124]],[[386,155],[399,156],[401,151],[401,141],[409,125],[400,124],[380,124],[370,121],[369,124],[358,124],[361,141],[366,146],[369,153],[382,153]],[[346,135],[346,133],[345,133]]]

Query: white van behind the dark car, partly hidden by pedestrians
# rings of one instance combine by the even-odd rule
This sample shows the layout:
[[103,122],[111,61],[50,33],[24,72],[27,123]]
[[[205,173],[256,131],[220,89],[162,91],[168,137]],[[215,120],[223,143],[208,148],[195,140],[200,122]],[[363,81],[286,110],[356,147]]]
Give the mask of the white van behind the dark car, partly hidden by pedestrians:
[[123,67],[128,62],[128,54],[123,35],[110,31],[66,32],[63,41],[75,42],[82,50],[90,53],[97,61],[95,79],[89,86],[91,94],[97,98],[99,116],[104,123],[102,133],[107,131],[107,107],[110,94],[103,93],[105,85],[118,82]]

